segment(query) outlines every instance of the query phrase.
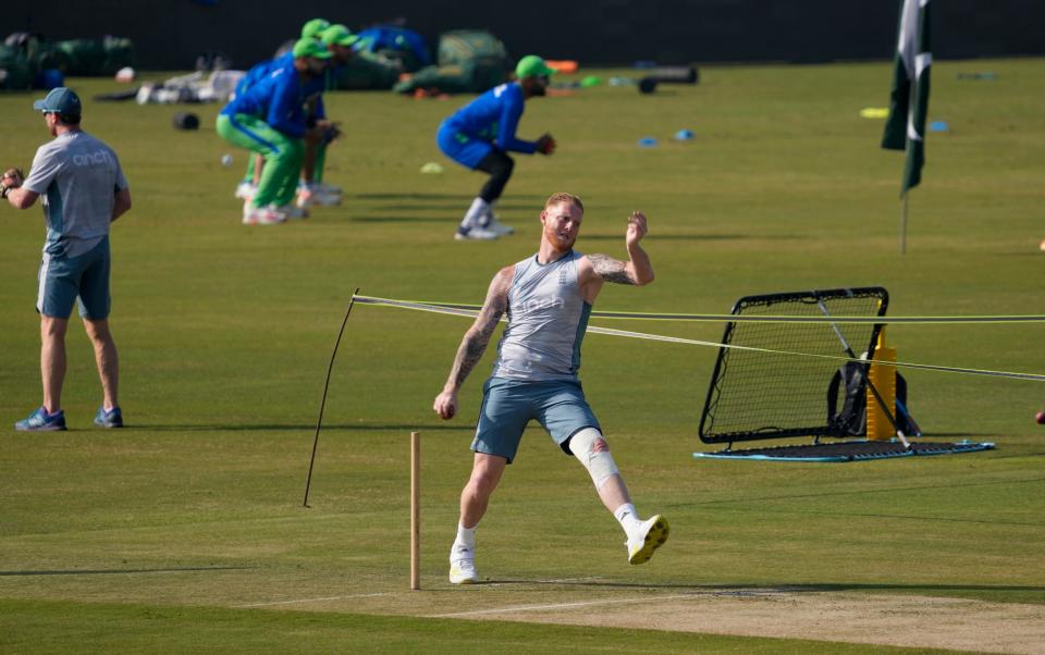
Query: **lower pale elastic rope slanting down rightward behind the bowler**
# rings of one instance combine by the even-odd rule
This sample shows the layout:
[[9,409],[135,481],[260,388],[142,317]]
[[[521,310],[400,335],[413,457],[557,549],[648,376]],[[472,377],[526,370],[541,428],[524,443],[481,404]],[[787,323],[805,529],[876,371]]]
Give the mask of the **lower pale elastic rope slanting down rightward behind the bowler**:
[[[353,299],[356,302],[364,305],[379,305],[385,307],[397,307],[401,309],[413,309],[417,311],[428,311],[432,313],[443,313],[450,316],[458,317],[468,317],[476,318],[479,314],[479,308],[474,305],[453,305],[450,302],[415,302],[413,300],[392,300],[389,298],[376,298],[373,296],[353,296]],[[595,317],[597,312],[591,312],[592,317]],[[602,317],[606,318],[606,317]],[[629,317],[630,318],[630,317]],[[733,314],[726,314],[722,319],[717,320],[734,320]],[[796,317],[798,318],[798,317]],[[884,318],[884,317],[883,317]],[[502,317],[501,321],[506,322],[507,318]],[[832,322],[844,322],[839,321],[837,317],[831,317]],[[817,322],[826,322],[821,319]],[[883,321],[875,321],[883,322]],[[655,342],[665,342],[671,344],[685,344],[690,346],[708,346],[714,348],[730,348],[734,350],[746,350],[749,353],[767,353],[771,355],[788,355],[791,357],[813,357],[816,359],[828,359],[833,361],[856,361],[863,362],[866,360],[853,358],[853,357],[844,357],[840,355],[819,355],[815,353],[795,353],[791,350],[775,350],[772,348],[757,348],[753,346],[738,346],[736,344],[721,344],[716,342],[705,342],[700,339],[684,338],[680,336],[665,336],[661,334],[649,334],[646,332],[631,332],[629,330],[615,330],[613,328],[599,328],[597,325],[588,325],[588,332],[593,332],[595,334],[606,334],[610,336],[624,336],[628,338],[641,338]],[[968,369],[960,367],[944,367],[936,366],[931,363],[915,363],[907,361],[880,361],[872,360],[875,366],[882,367],[892,367],[898,369],[918,369],[924,371],[941,371],[944,373],[963,373],[967,375],[987,375],[992,378],[1007,378],[1011,380],[1032,380],[1035,382],[1045,382],[1045,375],[1036,373],[1013,373],[1008,371],[991,371],[986,369]]]

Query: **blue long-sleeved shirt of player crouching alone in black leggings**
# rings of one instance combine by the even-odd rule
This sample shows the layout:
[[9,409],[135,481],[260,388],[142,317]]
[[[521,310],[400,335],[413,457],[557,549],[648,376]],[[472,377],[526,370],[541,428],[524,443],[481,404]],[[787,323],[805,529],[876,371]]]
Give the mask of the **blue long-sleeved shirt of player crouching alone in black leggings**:
[[474,139],[496,144],[502,150],[532,155],[537,151],[537,141],[515,136],[524,100],[519,83],[507,82],[458,109],[446,120],[446,125]]

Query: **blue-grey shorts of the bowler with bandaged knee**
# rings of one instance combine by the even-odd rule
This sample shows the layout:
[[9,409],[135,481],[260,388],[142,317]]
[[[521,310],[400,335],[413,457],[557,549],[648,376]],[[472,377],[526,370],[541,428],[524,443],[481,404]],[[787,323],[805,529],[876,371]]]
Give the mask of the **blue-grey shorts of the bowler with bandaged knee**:
[[490,378],[482,385],[482,407],[471,449],[499,455],[512,464],[530,419],[537,419],[567,454],[565,444],[578,430],[601,430],[580,382]]

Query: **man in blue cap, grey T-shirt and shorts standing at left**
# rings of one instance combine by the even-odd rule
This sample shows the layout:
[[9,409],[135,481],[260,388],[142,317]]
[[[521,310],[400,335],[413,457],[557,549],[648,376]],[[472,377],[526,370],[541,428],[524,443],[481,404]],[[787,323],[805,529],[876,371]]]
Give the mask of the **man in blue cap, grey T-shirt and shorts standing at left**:
[[28,177],[23,181],[12,169],[0,181],[0,195],[19,209],[27,209],[41,198],[47,223],[36,298],[44,405],[14,427],[26,431],[65,430],[65,331],[78,298],[104,394],[95,423],[120,428],[119,360],[108,320],[109,225],[131,209],[131,190],[112,148],[79,128],[82,106],[75,92],[56,88],[33,108],[44,112],[54,138],[36,151]]

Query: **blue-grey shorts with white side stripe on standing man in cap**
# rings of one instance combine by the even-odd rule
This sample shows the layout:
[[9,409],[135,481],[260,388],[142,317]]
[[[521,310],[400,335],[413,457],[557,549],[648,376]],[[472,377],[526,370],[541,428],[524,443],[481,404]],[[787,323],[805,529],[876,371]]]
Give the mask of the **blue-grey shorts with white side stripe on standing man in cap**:
[[109,318],[109,237],[76,257],[44,254],[40,262],[36,310],[46,317],[67,319],[79,299],[79,316],[93,321]]

